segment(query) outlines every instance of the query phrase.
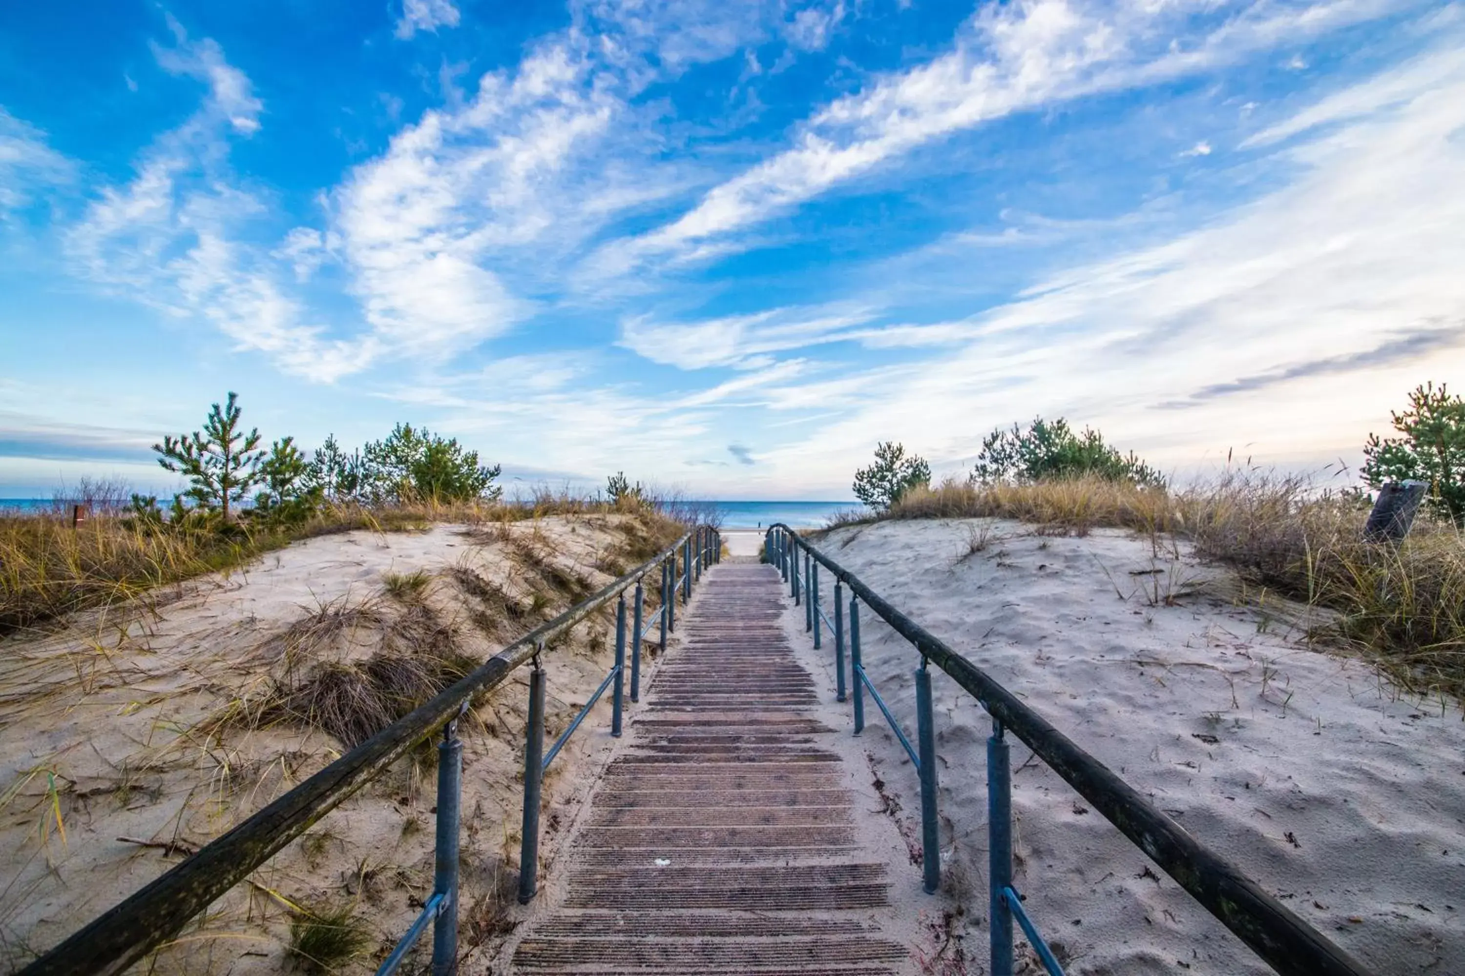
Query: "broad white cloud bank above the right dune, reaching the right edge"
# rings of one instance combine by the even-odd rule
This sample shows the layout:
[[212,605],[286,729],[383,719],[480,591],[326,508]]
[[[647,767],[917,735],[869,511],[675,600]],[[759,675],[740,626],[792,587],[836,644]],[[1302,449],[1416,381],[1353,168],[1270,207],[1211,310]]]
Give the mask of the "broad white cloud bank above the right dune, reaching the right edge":
[[951,468],[986,430],[1034,413],[1093,423],[1165,465],[1231,446],[1289,464],[1357,457],[1406,389],[1465,369],[1465,76],[1442,69],[1459,64],[1455,48],[1424,61],[1282,123],[1392,105],[1285,151],[1291,184],[957,323],[971,329],[960,351],[857,380],[854,410],[765,465],[850,470],[894,438]]

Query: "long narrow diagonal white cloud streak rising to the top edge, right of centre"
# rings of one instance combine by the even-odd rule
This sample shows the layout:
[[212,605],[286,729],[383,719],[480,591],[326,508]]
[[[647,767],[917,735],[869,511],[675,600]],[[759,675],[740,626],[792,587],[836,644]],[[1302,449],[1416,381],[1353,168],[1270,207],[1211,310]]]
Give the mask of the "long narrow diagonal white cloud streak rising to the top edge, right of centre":
[[1381,0],[1256,0],[1197,41],[1178,40],[1214,6],[1203,0],[982,6],[952,51],[826,105],[795,130],[791,148],[713,187],[677,221],[611,244],[602,265],[624,271],[649,256],[703,247],[916,146],[1015,111],[1206,70],[1396,9]]

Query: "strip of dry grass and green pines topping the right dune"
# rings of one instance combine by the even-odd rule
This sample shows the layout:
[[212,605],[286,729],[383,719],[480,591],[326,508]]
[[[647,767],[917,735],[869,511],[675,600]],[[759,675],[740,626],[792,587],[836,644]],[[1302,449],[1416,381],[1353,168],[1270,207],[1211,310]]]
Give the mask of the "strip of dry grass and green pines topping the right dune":
[[[841,524],[916,518],[1009,518],[1047,534],[1128,528],[1182,538],[1269,594],[1327,607],[1313,638],[1368,654],[1399,686],[1465,699],[1465,405],[1444,388],[1421,386],[1395,414],[1402,435],[1365,445],[1364,486],[1324,487],[1307,476],[1260,468],[1176,487],[1121,455],[1097,432],[1062,420],[995,432],[965,478],[900,484],[870,511]],[[1056,433],[1055,433],[1056,432]],[[923,464],[920,458],[916,462]],[[910,465],[911,459],[907,458]],[[1408,537],[1365,538],[1367,489],[1387,480],[1428,483]],[[867,476],[866,483],[872,478]],[[889,481],[889,480],[888,480]],[[898,484],[895,478],[892,483]]]

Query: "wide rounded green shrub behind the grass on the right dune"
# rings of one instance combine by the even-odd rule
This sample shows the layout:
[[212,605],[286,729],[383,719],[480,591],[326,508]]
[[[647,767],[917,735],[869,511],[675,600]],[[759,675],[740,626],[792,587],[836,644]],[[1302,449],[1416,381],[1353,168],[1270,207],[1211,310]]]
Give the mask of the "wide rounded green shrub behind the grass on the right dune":
[[1163,486],[1165,477],[1131,451],[1119,454],[1105,443],[1103,435],[1084,427],[1074,433],[1059,417],[1033,420],[1027,430],[993,430],[982,440],[971,480],[982,484],[1001,481],[1031,484],[1055,478],[1097,477],[1105,481]]

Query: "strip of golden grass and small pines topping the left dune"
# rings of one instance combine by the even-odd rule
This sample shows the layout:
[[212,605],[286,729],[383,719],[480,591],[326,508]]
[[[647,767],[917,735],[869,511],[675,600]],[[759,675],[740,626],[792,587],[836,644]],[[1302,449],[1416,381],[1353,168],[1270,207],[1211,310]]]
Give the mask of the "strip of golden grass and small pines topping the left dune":
[[214,404],[204,430],[164,438],[154,451],[189,483],[167,508],[117,480],[82,480],[59,490],[48,511],[0,511],[0,635],[330,533],[546,515],[640,515],[667,525],[716,518],[706,503],[652,492],[624,474],[611,476],[604,492],[541,486],[504,498],[497,465],[479,465],[457,440],[412,424],[352,452],[334,438],[309,457],[289,436],[262,449],[258,432],[240,426],[233,394]]

